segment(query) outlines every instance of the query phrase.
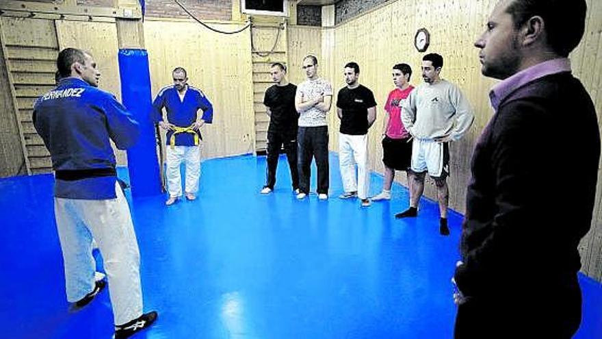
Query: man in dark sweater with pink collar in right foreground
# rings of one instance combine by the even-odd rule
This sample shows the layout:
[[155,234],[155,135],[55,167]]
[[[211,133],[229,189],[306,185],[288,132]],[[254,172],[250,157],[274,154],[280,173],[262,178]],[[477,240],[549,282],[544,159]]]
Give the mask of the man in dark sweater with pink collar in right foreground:
[[[483,75],[503,81],[471,162],[456,338],[579,329],[577,245],[590,229],[600,157],[594,105],[567,58],[585,18],[585,0],[502,0],[475,42]],[[554,136],[559,124],[572,133]]]

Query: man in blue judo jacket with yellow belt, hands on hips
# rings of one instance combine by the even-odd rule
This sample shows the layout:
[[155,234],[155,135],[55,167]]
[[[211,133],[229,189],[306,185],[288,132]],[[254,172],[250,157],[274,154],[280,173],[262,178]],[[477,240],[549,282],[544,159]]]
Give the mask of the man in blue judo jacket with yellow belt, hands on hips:
[[[172,205],[182,195],[182,161],[186,164],[186,199],[196,199],[200,176],[200,127],[213,121],[213,105],[201,90],[187,84],[186,70],[176,67],[172,76],[174,85],[162,88],[153,101],[155,121],[167,130],[166,177],[170,197],[166,205]],[[165,121],[163,108],[167,112]]]

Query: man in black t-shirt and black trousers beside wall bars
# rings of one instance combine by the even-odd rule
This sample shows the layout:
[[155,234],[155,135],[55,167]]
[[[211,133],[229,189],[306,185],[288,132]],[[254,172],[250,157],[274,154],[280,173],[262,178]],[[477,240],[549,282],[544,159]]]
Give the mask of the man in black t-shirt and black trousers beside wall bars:
[[293,192],[299,193],[299,174],[297,169],[297,129],[299,114],[295,108],[297,86],[287,81],[287,68],[275,62],[270,68],[272,79],[276,83],[265,90],[263,104],[270,116],[270,127],[267,128],[267,178],[261,194],[269,194],[276,184],[276,167],[280,148],[285,148]]

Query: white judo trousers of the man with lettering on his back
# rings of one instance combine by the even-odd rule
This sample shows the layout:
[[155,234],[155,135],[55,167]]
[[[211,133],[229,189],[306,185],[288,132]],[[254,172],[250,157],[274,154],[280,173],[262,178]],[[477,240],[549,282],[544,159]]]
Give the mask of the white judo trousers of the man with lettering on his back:
[[94,290],[96,262],[92,238],[103,255],[115,325],[142,315],[140,252],[129,205],[121,188],[106,200],[55,197],[55,218],[63,252],[67,300],[78,301]]

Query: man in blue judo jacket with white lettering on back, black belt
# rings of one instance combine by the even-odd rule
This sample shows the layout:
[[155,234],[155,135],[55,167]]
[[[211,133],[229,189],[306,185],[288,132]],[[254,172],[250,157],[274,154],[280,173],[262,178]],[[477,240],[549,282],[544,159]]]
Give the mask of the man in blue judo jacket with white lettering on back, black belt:
[[50,151],[54,205],[64,259],[67,300],[83,307],[105,288],[95,281],[92,238],[108,276],[115,338],[149,327],[157,312],[142,313],[140,252],[114,151],[135,144],[138,123],[115,97],[96,88],[92,55],[67,48],[57,58],[60,82],[34,105],[34,126]]

